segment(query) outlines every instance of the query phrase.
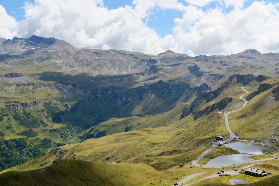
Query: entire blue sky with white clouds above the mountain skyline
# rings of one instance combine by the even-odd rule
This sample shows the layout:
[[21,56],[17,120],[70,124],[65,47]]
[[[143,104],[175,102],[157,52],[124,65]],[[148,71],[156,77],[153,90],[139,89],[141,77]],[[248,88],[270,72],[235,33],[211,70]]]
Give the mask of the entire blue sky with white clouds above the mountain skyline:
[[147,54],[279,52],[279,0],[0,0],[0,38]]

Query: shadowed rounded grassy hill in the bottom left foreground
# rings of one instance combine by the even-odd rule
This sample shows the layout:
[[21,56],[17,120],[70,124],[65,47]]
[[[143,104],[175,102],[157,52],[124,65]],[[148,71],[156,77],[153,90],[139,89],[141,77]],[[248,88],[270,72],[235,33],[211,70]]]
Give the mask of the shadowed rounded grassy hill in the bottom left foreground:
[[58,160],[38,170],[1,174],[0,185],[144,185],[164,178],[146,164]]

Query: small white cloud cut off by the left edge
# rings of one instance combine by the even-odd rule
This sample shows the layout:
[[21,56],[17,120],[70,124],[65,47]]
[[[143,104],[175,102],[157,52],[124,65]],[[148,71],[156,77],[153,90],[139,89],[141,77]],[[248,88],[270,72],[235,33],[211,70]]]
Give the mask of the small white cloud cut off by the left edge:
[[11,38],[17,34],[18,22],[12,16],[9,16],[5,8],[0,5],[0,37]]

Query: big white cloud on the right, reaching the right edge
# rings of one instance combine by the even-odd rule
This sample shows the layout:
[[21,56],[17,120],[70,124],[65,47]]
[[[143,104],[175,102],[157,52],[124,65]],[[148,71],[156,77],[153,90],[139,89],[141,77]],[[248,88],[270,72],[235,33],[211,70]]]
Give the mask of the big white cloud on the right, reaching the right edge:
[[[191,15],[191,16],[190,16]],[[173,37],[195,54],[231,54],[245,49],[271,52],[279,48],[279,12],[272,3],[253,2],[229,13],[192,7],[176,19]]]

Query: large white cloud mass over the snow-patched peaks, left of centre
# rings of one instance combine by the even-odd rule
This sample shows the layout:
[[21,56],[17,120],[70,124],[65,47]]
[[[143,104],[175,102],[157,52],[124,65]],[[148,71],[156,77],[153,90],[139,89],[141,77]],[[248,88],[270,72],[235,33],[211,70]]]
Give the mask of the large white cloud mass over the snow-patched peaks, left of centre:
[[157,54],[173,48],[173,37],[161,38],[142,21],[154,6],[175,8],[176,0],[133,1],[131,6],[108,10],[102,1],[36,0],[26,3],[22,37],[35,34],[69,41],[79,48],[113,48]]

